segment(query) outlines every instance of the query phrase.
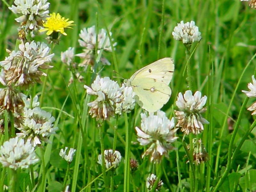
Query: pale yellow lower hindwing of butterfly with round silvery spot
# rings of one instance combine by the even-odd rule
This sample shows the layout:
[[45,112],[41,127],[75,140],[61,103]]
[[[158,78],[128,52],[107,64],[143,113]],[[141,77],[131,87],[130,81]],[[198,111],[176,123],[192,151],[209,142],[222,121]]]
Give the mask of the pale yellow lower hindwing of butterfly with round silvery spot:
[[167,84],[148,77],[134,79],[131,86],[138,96],[137,103],[148,112],[155,112],[162,108],[172,93]]

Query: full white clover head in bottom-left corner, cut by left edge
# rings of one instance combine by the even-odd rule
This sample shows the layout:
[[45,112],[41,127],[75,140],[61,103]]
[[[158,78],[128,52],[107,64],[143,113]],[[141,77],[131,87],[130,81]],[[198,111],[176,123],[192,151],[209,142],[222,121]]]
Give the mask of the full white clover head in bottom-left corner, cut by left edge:
[[34,147],[29,141],[25,143],[23,139],[18,137],[5,141],[0,147],[0,163],[4,167],[14,170],[18,168],[28,168],[30,164],[38,161],[34,152]]

